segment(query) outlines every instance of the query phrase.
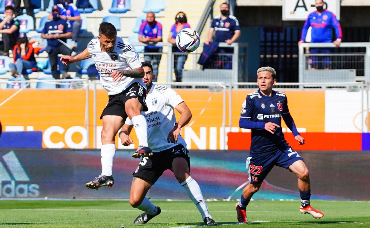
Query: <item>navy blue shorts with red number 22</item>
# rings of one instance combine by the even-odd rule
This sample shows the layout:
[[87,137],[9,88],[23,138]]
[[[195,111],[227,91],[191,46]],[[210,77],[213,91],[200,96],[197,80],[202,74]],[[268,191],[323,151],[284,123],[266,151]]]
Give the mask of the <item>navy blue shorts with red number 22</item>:
[[248,157],[249,182],[262,183],[274,166],[288,169],[291,164],[299,160],[303,161],[303,158],[292,147],[288,147],[286,150],[277,150],[272,154]]

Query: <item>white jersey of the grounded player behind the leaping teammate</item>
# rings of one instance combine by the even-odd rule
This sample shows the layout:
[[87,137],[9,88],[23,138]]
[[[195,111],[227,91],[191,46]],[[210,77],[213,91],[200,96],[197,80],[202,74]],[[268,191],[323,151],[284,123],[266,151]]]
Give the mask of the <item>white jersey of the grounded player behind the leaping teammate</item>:
[[[179,135],[177,143],[168,143],[168,133],[176,125],[174,108],[184,100],[173,89],[164,85],[154,85],[145,98],[148,106],[147,112],[141,112],[147,120],[148,144],[153,152],[163,150],[181,144],[186,147],[184,138]],[[132,125],[131,120],[126,119],[126,124]]]

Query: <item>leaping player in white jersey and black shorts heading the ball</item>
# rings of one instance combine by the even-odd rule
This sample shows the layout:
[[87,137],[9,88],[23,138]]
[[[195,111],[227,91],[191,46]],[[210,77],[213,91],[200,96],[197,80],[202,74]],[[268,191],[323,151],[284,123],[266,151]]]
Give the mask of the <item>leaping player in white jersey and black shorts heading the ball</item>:
[[[132,157],[151,156],[152,151],[148,147],[147,122],[141,115],[141,110],[148,110],[145,104],[146,86],[142,82],[144,69],[134,46],[117,37],[114,25],[102,22],[98,38],[92,39],[83,52],[75,57],[65,55],[60,60],[63,64],[70,64],[88,58],[94,59],[95,67],[100,74],[100,82],[109,96],[107,106],[100,116],[103,121],[102,172],[95,180],[86,183],[87,188],[98,189],[102,186],[112,187],[114,184],[112,177],[113,158],[116,152],[114,138],[127,117],[135,124],[139,140],[139,147]],[[119,79],[115,76],[119,76]]]

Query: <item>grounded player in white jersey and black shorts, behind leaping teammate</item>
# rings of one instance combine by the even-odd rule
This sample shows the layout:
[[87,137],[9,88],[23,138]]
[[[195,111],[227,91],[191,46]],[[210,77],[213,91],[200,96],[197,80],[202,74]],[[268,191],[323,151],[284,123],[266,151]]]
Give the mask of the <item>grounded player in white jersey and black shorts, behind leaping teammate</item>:
[[[151,64],[143,62],[142,66],[145,72],[142,80],[147,85],[145,102],[149,109],[143,115],[147,120],[149,146],[153,150],[153,156],[142,157],[133,174],[130,204],[132,207],[145,211],[136,218],[134,224],[147,223],[161,213],[161,208],[152,204],[145,195],[163,172],[170,169],[201,212],[205,225],[215,226],[217,223],[209,214],[202,191],[198,183],[190,176],[189,151],[186,149],[185,140],[180,135],[181,127],[188,124],[192,117],[191,111],[174,90],[163,85],[152,84],[155,75],[152,74]],[[174,109],[181,114],[178,122],[176,122]],[[121,143],[125,146],[133,143],[129,136],[132,127],[133,123],[127,118],[119,133]]]

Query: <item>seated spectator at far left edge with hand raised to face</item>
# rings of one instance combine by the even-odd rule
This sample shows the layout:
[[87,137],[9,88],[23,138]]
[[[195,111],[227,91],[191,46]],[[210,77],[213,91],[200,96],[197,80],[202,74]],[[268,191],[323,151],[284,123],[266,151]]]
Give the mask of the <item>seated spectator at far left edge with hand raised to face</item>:
[[0,19],[0,33],[3,35],[0,49],[6,56],[9,56],[9,50],[13,50],[19,35],[19,20],[13,18],[13,14],[13,6],[7,6],[5,7],[5,16]]

